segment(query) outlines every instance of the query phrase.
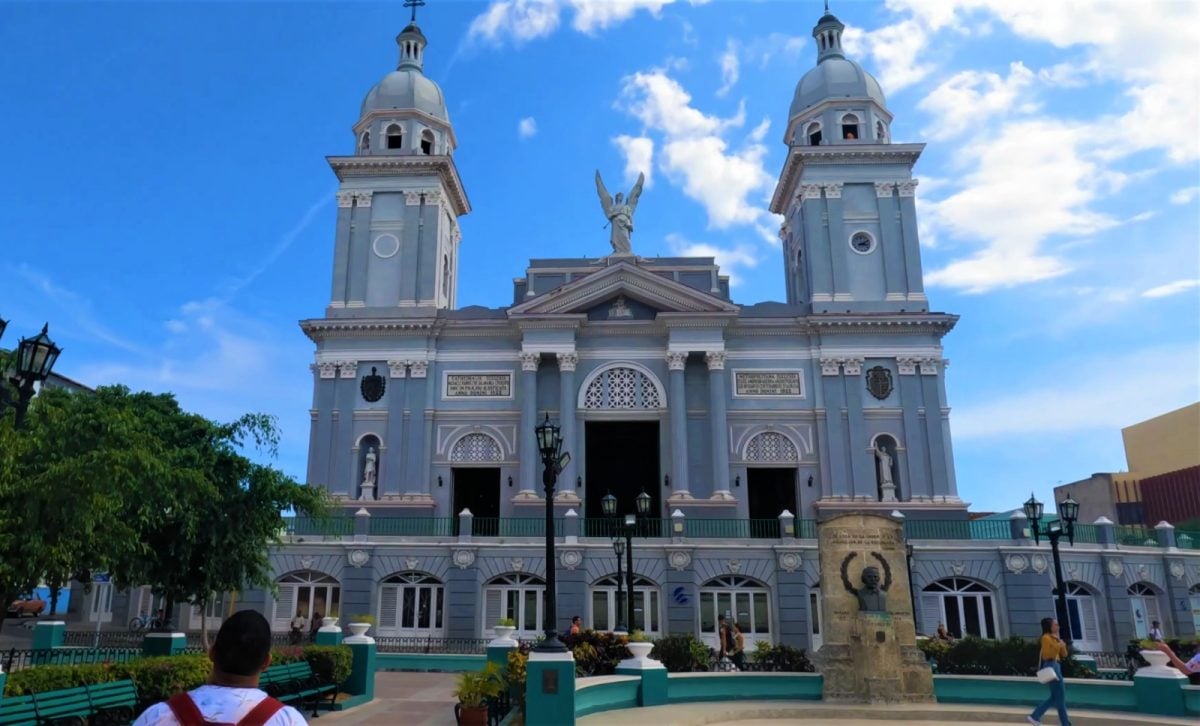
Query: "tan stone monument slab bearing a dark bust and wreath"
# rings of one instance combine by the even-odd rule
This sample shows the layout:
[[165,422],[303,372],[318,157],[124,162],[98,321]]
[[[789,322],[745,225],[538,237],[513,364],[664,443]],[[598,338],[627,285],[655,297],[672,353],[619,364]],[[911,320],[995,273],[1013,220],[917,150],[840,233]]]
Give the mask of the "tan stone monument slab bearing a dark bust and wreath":
[[[836,515],[817,524],[824,644],[814,654],[832,703],[931,703],[934,676],[917,648],[904,528],[874,514]],[[882,605],[863,611],[852,589],[866,592],[875,568]],[[882,600],[882,601],[881,601]]]

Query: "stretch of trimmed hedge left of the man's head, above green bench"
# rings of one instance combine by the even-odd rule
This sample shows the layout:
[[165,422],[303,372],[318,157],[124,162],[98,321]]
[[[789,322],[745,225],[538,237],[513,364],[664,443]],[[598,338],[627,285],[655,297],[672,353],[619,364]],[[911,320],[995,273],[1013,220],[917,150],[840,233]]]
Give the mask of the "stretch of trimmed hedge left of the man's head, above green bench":
[[209,678],[212,664],[206,655],[140,658],[124,664],[35,666],[8,674],[5,696],[26,696],[79,685],[133,680],[143,701],[163,701],[191,690]]

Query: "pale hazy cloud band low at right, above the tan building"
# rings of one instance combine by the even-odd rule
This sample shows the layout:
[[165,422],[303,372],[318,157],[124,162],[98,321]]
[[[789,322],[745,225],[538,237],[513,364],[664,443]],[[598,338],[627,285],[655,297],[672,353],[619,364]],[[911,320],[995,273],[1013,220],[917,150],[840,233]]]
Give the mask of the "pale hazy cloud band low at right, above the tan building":
[[[955,440],[1114,431],[1200,396],[1195,346],[1163,346],[1094,360],[1060,361],[1015,392],[960,404]],[[1147,366],[1153,360],[1156,365]]]

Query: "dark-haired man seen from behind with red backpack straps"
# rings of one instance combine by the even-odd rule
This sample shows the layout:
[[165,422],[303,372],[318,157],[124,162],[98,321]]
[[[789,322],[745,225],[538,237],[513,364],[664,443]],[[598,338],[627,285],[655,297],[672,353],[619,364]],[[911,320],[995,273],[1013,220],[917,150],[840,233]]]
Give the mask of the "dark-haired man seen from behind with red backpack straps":
[[133,726],[304,726],[300,712],[258,688],[258,676],[271,665],[271,625],[244,610],[221,625],[209,650],[209,682],[169,701],[151,706]]

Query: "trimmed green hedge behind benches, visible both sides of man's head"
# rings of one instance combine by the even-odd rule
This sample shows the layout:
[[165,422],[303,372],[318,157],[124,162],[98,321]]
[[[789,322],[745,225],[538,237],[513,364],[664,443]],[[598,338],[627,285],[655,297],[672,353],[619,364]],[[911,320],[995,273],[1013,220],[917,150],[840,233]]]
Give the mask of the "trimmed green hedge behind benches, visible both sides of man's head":
[[[344,683],[350,677],[354,655],[348,646],[307,646],[277,648],[271,662],[308,661],[312,672],[326,683]],[[128,662],[104,662],[72,666],[34,666],[8,673],[5,696],[26,696],[79,685],[113,680],[132,680],[143,702],[166,701],[174,694],[191,690],[209,679],[212,664],[208,655],[164,655],[138,658]]]

